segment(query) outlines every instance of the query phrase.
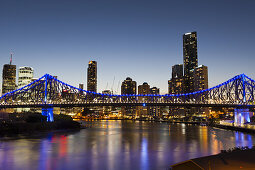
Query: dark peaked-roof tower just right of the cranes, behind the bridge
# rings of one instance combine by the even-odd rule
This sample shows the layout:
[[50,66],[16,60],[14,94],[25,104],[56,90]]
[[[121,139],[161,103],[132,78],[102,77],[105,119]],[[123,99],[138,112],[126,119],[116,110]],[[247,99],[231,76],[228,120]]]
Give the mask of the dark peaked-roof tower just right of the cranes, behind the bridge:
[[[121,84],[121,94],[136,94],[136,81],[127,77]],[[123,116],[132,117],[133,119],[135,117],[136,107],[125,106],[121,108],[121,112]]]

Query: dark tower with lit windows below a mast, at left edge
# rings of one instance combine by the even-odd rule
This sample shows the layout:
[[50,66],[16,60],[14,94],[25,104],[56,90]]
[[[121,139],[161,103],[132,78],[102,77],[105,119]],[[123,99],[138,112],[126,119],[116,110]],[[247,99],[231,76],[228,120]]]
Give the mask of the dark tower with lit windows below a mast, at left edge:
[[16,65],[5,64],[3,67],[2,94],[16,89]]

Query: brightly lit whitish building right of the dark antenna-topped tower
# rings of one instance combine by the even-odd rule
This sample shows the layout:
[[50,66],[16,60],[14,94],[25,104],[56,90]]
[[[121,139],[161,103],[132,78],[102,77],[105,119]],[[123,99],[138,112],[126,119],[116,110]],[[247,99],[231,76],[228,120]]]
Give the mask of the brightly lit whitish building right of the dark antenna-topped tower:
[[20,67],[18,76],[18,88],[24,87],[32,82],[34,69],[32,67]]

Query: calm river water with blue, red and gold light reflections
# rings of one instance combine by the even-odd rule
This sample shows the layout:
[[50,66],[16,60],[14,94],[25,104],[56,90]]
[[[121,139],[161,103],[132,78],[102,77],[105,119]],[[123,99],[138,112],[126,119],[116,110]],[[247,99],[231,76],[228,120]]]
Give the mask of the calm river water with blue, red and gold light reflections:
[[254,135],[207,126],[118,120],[83,123],[91,128],[0,139],[0,169],[168,169],[191,158],[255,143]]

